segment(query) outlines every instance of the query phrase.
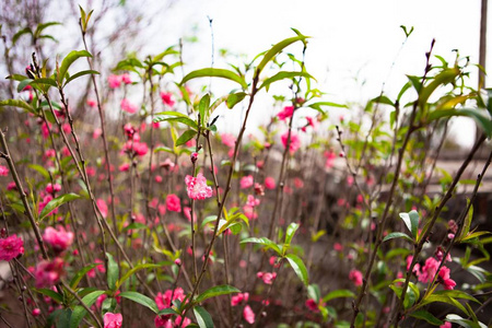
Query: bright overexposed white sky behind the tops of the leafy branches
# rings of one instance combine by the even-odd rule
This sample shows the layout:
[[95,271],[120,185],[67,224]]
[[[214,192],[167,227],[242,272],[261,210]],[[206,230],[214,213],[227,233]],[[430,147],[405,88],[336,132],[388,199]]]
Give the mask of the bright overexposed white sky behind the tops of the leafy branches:
[[[207,16],[213,19],[215,49],[247,54],[248,59],[293,36],[290,27],[312,36],[306,68],[320,82],[319,89],[337,102],[364,103],[379,94],[384,81],[386,94],[395,96],[407,82],[406,74],[423,72],[432,38],[436,39],[434,55],[453,62],[452,50],[459,49],[461,56],[478,62],[480,0],[177,1],[162,22],[162,37],[176,43],[177,37],[191,34],[190,26],[198,26],[199,44],[190,46],[188,54],[185,47],[185,61],[192,66],[188,70],[210,66]],[[413,26],[414,32],[399,52],[405,39],[400,25]],[[186,60],[189,56],[194,59]],[[215,61],[221,66],[216,54]],[[477,84],[476,72],[470,83]],[[458,141],[471,143],[473,124],[460,120],[459,125]]]

